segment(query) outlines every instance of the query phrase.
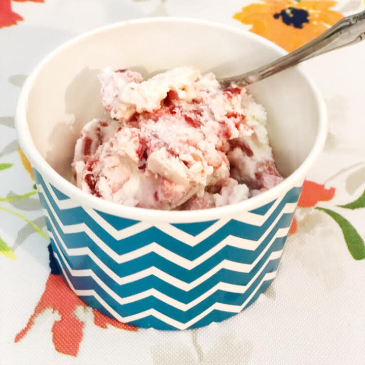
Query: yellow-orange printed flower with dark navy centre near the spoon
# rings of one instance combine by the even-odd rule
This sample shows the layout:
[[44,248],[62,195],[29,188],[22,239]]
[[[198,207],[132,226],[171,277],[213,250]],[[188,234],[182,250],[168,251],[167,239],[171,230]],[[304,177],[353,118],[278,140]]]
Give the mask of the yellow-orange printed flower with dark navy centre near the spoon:
[[336,4],[330,0],[264,0],[242,8],[233,18],[291,52],[343,18],[331,10]]

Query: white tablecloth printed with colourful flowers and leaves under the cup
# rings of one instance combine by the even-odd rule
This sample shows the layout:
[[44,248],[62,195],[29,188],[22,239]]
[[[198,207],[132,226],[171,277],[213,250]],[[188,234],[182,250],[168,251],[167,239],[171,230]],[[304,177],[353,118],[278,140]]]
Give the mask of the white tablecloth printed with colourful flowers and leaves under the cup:
[[365,44],[307,61],[330,132],[305,182],[277,278],[219,324],[144,330],[86,306],[50,258],[45,221],[14,113],[20,88],[49,51],[86,30],[144,16],[213,20],[288,51],[360,0],[0,0],[0,363],[364,364]]

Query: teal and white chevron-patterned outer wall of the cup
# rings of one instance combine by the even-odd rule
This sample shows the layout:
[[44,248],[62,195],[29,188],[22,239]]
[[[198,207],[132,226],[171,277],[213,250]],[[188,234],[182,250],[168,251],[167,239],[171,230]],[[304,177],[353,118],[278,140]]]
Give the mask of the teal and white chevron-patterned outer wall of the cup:
[[122,322],[184,330],[252,304],[276,275],[301,192],[215,221],[148,224],[84,208],[34,170],[68,285]]

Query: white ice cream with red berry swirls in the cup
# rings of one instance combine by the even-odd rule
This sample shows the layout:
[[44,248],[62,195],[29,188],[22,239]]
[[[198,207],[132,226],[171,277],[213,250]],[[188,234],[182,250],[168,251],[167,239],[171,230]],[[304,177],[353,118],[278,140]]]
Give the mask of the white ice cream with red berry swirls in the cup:
[[266,113],[245,88],[177,67],[143,81],[99,75],[108,117],[81,131],[72,167],[83,191],[119,204],[203,209],[233,204],[280,181]]

